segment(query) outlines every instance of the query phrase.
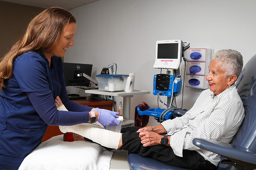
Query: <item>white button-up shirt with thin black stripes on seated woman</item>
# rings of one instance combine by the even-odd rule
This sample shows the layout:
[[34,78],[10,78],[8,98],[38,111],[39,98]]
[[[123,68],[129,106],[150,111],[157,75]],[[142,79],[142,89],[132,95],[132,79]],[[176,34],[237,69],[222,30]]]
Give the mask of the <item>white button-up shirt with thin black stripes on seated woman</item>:
[[244,119],[244,106],[235,85],[215,96],[204,90],[194,106],[181,117],[166,120],[161,125],[170,135],[170,146],[182,157],[182,149],[195,150],[206,160],[218,165],[220,155],[196,147],[194,138],[229,143]]

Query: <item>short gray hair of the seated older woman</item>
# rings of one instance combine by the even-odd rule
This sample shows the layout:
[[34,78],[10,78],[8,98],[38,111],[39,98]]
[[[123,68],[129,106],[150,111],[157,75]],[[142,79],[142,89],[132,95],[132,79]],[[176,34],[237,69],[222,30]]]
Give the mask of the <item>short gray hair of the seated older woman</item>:
[[225,72],[225,77],[237,75],[239,77],[243,68],[243,56],[236,50],[219,50],[212,56],[212,60],[217,60],[220,68]]

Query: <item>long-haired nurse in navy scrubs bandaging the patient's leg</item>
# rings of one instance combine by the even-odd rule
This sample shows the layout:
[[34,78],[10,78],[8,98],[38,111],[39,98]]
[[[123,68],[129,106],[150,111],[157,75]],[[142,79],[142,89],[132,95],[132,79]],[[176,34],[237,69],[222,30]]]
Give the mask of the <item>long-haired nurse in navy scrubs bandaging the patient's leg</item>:
[[[0,63],[0,169],[18,169],[41,143],[47,125],[98,121],[116,126],[116,112],[68,100],[62,59],[74,45],[76,19],[60,7],[37,15]],[[58,111],[58,99],[69,111]],[[95,118],[96,117],[96,118]]]

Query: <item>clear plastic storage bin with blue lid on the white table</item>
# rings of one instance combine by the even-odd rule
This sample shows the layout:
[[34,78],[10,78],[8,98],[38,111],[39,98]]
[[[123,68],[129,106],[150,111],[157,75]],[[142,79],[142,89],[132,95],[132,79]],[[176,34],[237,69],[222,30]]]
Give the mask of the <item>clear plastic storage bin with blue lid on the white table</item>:
[[129,75],[124,74],[99,74],[96,75],[99,90],[101,91],[124,91],[127,77]]

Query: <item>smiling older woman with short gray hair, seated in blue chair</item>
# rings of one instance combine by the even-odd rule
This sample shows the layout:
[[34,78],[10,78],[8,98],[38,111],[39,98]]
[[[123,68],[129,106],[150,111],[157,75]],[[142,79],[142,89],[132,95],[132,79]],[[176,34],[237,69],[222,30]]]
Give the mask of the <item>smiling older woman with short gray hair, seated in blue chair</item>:
[[[244,118],[243,102],[234,84],[242,67],[243,58],[239,52],[220,50],[212,56],[209,65],[206,80],[210,88],[199,95],[185,115],[152,127],[123,128],[118,146],[106,144],[97,138],[92,140],[106,147],[129,150],[177,167],[212,170],[218,165],[220,155],[196,147],[192,140],[205,138],[225,143],[232,140]],[[84,130],[74,130],[72,127],[61,130],[88,137]]]

